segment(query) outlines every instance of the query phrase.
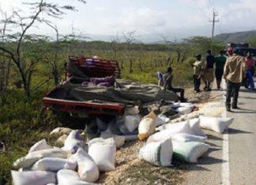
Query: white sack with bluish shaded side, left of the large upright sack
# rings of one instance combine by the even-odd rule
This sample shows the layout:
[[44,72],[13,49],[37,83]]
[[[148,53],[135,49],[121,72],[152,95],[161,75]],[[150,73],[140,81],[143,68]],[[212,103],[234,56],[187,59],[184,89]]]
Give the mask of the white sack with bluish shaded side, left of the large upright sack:
[[76,153],[79,148],[87,150],[87,145],[81,139],[81,136],[78,131],[71,131],[70,135],[65,140],[65,144],[62,147],[62,150],[70,151],[71,153]]

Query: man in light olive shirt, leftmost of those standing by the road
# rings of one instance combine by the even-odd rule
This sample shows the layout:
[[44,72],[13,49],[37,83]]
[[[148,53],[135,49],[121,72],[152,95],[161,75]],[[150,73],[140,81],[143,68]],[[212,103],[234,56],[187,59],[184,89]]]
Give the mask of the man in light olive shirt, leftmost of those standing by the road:
[[201,85],[201,74],[202,74],[202,61],[201,61],[201,54],[198,54],[196,57],[196,61],[194,64],[191,64],[193,67],[193,79],[194,79],[194,92],[200,92],[200,85]]

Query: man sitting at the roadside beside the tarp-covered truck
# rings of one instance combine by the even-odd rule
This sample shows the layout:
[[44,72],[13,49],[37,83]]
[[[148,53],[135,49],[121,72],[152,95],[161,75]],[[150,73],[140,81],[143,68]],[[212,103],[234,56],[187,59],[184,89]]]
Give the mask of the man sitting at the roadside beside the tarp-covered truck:
[[168,67],[168,71],[164,74],[164,90],[173,91],[175,93],[179,93],[179,100],[181,102],[186,102],[186,99],[184,98],[184,89],[182,88],[174,88],[172,87],[172,68]]

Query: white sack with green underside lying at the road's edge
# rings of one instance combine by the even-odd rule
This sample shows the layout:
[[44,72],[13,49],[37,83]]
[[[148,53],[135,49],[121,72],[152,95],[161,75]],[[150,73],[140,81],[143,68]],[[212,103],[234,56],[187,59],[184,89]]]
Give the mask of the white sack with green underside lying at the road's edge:
[[173,156],[181,161],[189,163],[197,163],[198,157],[201,157],[207,150],[209,145],[202,142],[172,142]]

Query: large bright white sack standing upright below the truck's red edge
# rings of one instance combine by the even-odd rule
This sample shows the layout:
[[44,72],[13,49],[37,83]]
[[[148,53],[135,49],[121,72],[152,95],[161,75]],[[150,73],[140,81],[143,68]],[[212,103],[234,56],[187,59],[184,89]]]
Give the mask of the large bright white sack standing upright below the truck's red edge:
[[115,170],[115,140],[114,139],[92,139],[88,142],[88,154],[101,172]]

